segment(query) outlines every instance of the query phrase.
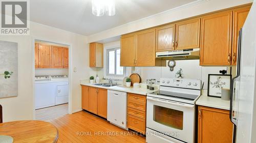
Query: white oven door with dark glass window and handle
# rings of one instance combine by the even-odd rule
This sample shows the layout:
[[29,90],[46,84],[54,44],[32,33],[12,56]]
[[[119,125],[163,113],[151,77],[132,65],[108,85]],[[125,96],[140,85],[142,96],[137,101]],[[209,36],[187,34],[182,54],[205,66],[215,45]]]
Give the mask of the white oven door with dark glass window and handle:
[[147,96],[146,127],[194,142],[195,105]]

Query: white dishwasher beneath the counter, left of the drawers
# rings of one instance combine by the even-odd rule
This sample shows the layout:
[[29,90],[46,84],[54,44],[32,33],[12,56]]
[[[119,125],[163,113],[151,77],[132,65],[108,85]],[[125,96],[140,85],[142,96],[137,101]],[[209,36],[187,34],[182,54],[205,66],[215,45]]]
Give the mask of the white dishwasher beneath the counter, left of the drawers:
[[127,95],[125,92],[108,90],[108,118],[110,123],[128,130],[126,127]]

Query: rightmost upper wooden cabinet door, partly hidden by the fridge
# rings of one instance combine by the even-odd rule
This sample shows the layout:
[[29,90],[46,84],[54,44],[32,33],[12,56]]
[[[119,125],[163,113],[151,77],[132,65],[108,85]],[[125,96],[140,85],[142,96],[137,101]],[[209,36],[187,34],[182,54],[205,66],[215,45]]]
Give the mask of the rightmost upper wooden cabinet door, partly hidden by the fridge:
[[232,45],[232,65],[237,65],[237,43],[239,31],[243,27],[250,7],[236,9],[233,12],[233,45]]

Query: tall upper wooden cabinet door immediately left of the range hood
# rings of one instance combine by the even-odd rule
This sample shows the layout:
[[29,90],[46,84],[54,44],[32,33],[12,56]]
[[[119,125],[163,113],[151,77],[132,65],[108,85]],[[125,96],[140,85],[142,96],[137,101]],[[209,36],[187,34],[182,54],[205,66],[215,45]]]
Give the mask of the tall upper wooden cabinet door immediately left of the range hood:
[[156,65],[156,29],[137,33],[136,66]]

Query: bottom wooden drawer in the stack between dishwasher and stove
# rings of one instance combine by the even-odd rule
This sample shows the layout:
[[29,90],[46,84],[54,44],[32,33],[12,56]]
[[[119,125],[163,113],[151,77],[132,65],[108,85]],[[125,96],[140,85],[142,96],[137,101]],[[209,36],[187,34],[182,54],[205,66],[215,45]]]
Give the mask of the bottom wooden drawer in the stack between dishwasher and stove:
[[127,127],[145,134],[146,123],[145,123],[145,120],[143,120],[143,119],[139,119],[134,116],[128,115]]

